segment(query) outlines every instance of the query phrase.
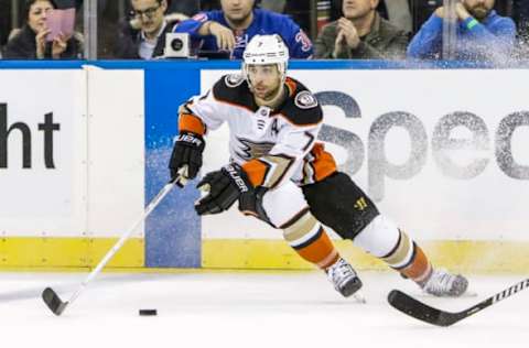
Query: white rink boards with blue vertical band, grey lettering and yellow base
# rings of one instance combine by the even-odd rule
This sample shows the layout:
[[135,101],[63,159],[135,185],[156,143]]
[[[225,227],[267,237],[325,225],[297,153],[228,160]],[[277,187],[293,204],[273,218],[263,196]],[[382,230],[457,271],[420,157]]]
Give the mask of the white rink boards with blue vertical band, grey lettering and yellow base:
[[[179,105],[237,69],[95,65],[0,63],[2,268],[97,264],[169,178]],[[341,170],[434,261],[529,270],[529,70],[413,67],[294,62],[290,74],[322,104],[320,138]],[[208,135],[204,172],[228,161],[227,135],[224,127]],[[236,209],[199,219],[188,186],[169,195],[110,267],[310,268],[279,230]],[[384,268],[337,243],[359,268]]]

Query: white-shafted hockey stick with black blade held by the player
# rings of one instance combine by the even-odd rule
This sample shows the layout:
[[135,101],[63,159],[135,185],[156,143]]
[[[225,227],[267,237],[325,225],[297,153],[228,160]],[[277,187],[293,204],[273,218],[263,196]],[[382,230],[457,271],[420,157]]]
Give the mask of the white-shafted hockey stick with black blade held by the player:
[[105,268],[105,265],[110,261],[110,259],[118,252],[118,250],[123,246],[126,240],[130,237],[130,235],[138,228],[138,226],[151,214],[152,210],[162,202],[162,199],[171,192],[174,185],[183,186],[187,183],[187,180],[182,176],[182,173],[179,172],[179,176],[174,180],[170,181],[169,183],[163,186],[163,188],[156,194],[154,198],[149,203],[145,210],[134,221],[134,224],[119,238],[119,240],[114,244],[112,249],[110,249],[107,254],[102,258],[101,261],[97,264],[97,267],[88,274],[88,276],[80,283],[77,291],[69,297],[68,301],[63,302],[61,297],[58,297],[57,293],[52,287],[46,287],[42,292],[42,300],[47,305],[47,307],[55,314],[61,315],[68,304],[72,304],[85,290],[86,285],[96,278],[97,274]]

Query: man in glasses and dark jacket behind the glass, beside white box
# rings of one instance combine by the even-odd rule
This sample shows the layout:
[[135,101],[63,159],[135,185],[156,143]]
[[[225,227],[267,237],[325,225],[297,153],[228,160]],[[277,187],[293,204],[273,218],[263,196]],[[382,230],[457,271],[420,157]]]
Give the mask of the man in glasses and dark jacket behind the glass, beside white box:
[[164,15],[166,0],[131,0],[132,19],[121,23],[116,57],[121,59],[152,59],[163,56],[165,34],[186,19],[174,13]]

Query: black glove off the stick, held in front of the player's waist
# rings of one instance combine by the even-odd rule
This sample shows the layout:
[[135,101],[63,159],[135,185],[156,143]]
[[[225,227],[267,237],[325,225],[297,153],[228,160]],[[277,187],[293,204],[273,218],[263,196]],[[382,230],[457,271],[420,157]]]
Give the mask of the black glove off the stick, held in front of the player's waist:
[[253,191],[245,171],[235,163],[208,173],[196,187],[207,192],[207,195],[195,204],[198,215],[228,210],[241,194]]

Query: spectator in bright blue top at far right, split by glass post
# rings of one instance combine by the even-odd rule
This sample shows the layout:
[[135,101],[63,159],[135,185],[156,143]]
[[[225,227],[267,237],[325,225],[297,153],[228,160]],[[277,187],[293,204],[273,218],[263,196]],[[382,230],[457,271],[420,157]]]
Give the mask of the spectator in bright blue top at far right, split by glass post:
[[[507,17],[494,9],[495,0],[462,0],[455,4],[456,46],[458,61],[499,62],[515,47],[516,26]],[[440,59],[442,53],[443,18],[440,7],[422,25],[408,47],[408,56],[421,59]]]

